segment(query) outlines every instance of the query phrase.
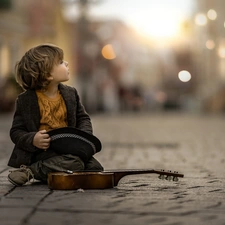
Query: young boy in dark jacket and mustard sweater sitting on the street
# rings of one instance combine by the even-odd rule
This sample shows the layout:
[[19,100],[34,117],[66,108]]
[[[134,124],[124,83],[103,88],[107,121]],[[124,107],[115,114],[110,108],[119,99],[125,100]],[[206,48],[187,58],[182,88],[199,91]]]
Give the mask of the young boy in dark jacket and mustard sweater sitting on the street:
[[63,85],[69,80],[68,62],[63,50],[52,44],[31,48],[16,64],[16,80],[25,90],[16,101],[10,137],[15,144],[8,165],[8,179],[16,186],[31,178],[47,181],[49,172],[71,170],[102,171],[92,157],[84,163],[72,154],[57,154],[49,148],[47,131],[75,127],[92,134],[92,124],[75,88]]

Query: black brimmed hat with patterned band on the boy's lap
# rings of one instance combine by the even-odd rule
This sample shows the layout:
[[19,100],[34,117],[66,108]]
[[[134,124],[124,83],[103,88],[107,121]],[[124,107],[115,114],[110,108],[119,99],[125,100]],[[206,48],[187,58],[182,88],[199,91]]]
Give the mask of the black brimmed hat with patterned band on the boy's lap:
[[59,154],[79,156],[84,162],[87,162],[102,148],[96,136],[74,127],[62,127],[47,133],[51,138],[51,149]]

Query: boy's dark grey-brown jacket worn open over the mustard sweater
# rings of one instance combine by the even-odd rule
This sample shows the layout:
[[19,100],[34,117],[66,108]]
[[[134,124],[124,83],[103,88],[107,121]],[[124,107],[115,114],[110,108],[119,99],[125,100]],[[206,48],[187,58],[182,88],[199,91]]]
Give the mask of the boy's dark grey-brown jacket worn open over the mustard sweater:
[[[90,117],[81,104],[76,89],[60,84],[59,90],[66,104],[68,126],[92,133]],[[10,129],[10,137],[15,146],[8,162],[9,166],[18,168],[22,164],[28,166],[34,162],[33,156],[40,149],[32,143],[39,126],[40,110],[37,95],[34,90],[27,90],[16,100],[15,114]]]

